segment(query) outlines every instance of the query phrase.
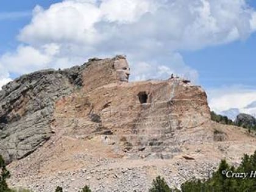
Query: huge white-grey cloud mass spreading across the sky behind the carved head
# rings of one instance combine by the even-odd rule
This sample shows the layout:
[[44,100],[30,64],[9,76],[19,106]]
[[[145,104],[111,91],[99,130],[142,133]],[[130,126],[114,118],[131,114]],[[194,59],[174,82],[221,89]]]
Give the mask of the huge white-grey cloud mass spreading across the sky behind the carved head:
[[244,0],[66,0],[37,5],[18,35],[23,45],[0,65],[21,74],[126,54],[133,80],[171,73],[197,80],[180,51],[243,40],[254,30],[256,15]]

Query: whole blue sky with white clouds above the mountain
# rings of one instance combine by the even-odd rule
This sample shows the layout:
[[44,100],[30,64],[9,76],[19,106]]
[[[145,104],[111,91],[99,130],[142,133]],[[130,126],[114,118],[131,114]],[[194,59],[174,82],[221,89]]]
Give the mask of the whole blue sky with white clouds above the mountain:
[[212,110],[256,101],[254,0],[0,1],[0,87],[125,54],[130,80],[191,79]]

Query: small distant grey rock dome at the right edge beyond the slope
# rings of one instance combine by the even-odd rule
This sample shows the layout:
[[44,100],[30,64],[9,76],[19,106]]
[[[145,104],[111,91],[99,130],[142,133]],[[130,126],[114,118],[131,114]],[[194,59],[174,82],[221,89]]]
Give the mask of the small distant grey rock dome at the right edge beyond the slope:
[[256,127],[256,119],[252,115],[247,115],[245,113],[240,113],[236,116],[235,125],[247,128]]

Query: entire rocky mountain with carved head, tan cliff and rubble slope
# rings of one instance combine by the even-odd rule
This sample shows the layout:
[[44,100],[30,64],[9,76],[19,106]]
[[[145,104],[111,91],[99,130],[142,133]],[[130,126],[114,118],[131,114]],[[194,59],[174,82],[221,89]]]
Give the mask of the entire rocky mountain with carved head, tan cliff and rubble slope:
[[12,187],[148,191],[206,178],[255,151],[246,129],[211,121],[207,94],[179,77],[129,82],[118,55],[44,70],[0,91],[0,154]]

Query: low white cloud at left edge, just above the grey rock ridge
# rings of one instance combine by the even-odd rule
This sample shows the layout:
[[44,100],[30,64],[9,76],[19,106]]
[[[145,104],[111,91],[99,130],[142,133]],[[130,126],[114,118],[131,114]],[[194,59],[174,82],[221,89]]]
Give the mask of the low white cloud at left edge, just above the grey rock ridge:
[[[25,74],[38,69],[69,68],[83,62],[79,57],[66,57],[59,55],[58,44],[43,44],[37,49],[32,46],[19,46],[16,52],[7,52],[0,57],[0,69],[4,68],[4,75],[0,79],[9,77],[9,73]],[[0,70],[1,71],[1,70]]]

